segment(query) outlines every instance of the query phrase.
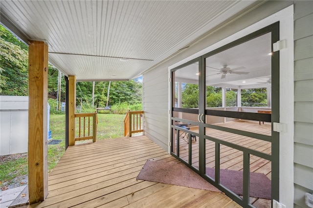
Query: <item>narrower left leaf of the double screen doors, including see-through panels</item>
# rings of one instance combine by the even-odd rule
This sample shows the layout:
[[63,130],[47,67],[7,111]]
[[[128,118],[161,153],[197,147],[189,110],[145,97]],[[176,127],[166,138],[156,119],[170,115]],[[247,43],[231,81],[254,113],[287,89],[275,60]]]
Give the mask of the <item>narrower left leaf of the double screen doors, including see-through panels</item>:
[[200,60],[172,70],[171,152],[199,170],[199,76]]

